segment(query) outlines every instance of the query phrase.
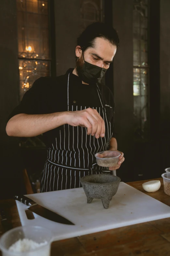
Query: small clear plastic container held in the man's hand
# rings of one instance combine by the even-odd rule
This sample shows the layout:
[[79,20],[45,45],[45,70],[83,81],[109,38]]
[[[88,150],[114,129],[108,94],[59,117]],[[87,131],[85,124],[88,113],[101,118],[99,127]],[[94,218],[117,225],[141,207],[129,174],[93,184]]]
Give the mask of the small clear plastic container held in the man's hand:
[[103,167],[118,165],[120,153],[117,151],[103,151],[95,154],[97,164]]

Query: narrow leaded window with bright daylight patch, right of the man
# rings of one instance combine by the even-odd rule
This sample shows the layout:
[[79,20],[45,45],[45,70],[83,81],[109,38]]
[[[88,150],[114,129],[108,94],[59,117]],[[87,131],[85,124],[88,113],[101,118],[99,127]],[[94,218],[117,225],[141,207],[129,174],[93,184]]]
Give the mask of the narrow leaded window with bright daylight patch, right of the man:
[[149,133],[148,0],[134,0],[134,117],[135,139],[147,140]]

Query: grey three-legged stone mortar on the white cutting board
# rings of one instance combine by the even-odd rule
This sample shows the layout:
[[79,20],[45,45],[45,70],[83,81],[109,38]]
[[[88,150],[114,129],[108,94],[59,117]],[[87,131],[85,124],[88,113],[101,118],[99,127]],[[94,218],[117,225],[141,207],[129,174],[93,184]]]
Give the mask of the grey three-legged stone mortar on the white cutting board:
[[92,174],[82,177],[80,182],[87,196],[87,203],[91,203],[93,198],[100,198],[107,209],[118,190],[120,178],[110,174]]

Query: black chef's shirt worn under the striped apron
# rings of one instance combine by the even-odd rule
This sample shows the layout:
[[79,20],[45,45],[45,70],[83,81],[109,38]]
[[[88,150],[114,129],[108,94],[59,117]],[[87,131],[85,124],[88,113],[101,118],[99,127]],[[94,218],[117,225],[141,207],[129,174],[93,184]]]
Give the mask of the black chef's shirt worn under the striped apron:
[[[96,85],[82,84],[80,78],[72,74],[69,69],[65,75],[59,77],[40,77],[33,86],[24,94],[22,101],[9,116],[9,119],[17,114],[49,114],[54,112],[67,111],[67,82],[69,79],[69,104],[81,106],[101,107],[101,102],[96,90]],[[105,85],[98,84],[104,106],[114,131],[114,99],[110,89]],[[43,141],[47,147],[53,143],[56,137],[57,128],[43,134]]]

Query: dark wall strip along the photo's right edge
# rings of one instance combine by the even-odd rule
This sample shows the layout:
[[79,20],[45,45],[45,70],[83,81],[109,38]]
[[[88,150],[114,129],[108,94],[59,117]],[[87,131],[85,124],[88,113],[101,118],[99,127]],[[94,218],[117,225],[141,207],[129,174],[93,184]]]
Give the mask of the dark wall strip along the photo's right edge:
[[162,170],[170,166],[170,1],[160,1],[160,148]]

